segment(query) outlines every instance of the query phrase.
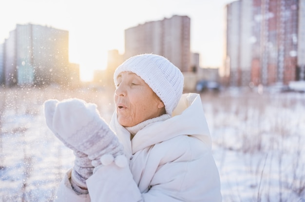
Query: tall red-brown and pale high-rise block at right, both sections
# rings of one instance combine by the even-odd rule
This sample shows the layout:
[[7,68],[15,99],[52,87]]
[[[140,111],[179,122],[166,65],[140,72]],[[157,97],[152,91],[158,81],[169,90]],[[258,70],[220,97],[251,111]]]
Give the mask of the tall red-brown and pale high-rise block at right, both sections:
[[231,85],[288,84],[302,78],[303,4],[302,0],[238,0],[227,5],[223,71],[229,69]]

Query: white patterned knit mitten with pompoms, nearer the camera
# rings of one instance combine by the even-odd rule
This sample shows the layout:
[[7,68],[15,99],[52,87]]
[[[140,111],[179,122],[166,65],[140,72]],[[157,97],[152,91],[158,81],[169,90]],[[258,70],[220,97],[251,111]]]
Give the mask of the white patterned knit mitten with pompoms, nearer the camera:
[[113,161],[119,167],[127,166],[122,145],[95,104],[78,99],[49,100],[45,102],[45,117],[48,127],[67,147],[88,155],[93,172]]

